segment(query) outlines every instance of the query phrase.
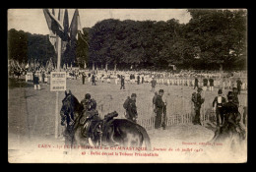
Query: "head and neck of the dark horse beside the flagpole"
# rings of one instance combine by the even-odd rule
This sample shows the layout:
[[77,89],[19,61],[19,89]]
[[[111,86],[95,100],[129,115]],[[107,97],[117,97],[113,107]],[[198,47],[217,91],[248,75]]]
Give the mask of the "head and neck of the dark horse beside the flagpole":
[[71,90],[69,93],[65,90],[65,97],[62,100],[62,107],[60,110],[61,116],[61,125],[64,126],[64,123],[67,122],[67,125],[73,125],[77,114],[78,106],[80,103],[78,99],[72,94]]

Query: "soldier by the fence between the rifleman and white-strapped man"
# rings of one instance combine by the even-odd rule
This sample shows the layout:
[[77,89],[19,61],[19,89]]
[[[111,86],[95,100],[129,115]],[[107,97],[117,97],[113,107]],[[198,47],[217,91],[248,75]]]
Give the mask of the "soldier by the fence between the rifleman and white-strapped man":
[[192,94],[192,101],[194,102],[194,106],[195,106],[195,118],[194,118],[194,121],[193,121],[193,124],[194,125],[201,125],[201,122],[200,122],[200,109],[201,109],[201,105],[204,103],[205,99],[202,98],[201,96],[201,92],[202,92],[202,88],[201,87],[198,87],[197,88],[197,93],[194,92]]

